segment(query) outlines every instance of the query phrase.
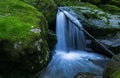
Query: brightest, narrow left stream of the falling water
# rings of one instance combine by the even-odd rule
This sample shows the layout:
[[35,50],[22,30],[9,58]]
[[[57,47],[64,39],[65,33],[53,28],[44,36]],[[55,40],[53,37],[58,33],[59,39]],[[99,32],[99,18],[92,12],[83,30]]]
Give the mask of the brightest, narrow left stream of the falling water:
[[65,15],[58,11],[57,18],[56,18],[56,36],[57,36],[57,50],[67,50],[67,40],[66,40],[66,18]]

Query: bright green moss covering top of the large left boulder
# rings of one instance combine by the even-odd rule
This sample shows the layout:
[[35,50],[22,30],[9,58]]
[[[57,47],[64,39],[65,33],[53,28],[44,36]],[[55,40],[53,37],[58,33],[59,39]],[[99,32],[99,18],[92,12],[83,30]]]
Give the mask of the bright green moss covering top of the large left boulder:
[[23,39],[25,43],[29,43],[35,37],[33,35],[40,35],[30,32],[32,26],[39,27],[39,17],[42,17],[42,14],[24,2],[2,0],[0,2],[0,39],[13,42]]

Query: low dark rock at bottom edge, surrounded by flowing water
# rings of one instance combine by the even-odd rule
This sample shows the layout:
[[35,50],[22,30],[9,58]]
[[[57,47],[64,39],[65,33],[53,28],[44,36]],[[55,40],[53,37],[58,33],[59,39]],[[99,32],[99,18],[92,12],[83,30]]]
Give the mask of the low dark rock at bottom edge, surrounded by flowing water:
[[78,73],[74,78],[102,78],[92,73]]

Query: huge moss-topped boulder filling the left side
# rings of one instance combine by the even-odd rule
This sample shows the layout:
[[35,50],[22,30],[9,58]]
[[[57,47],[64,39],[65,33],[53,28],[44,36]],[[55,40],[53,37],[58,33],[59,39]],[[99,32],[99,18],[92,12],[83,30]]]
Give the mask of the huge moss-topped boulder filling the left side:
[[0,1],[0,76],[30,78],[49,61],[48,24],[34,7]]

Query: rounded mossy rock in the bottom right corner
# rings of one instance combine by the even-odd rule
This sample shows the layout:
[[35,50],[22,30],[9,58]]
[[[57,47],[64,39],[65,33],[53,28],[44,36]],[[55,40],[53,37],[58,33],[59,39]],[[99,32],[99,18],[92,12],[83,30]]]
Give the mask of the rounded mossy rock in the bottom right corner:
[[120,77],[120,53],[115,55],[107,64],[104,70],[104,78]]

